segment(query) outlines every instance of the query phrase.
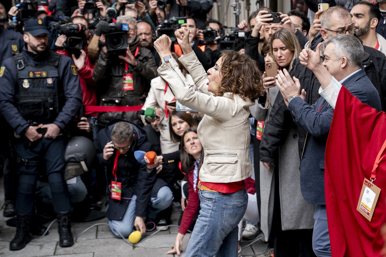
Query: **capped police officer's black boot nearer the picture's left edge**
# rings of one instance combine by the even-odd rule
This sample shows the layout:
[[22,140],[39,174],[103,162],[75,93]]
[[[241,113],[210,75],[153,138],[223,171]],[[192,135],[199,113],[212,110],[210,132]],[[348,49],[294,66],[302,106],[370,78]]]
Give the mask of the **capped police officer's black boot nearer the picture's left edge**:
[[9,244],[9,250],[20,250],[31,241],[31,236],[28,231],[29,216],[17,214],[16,215],[16,235]]

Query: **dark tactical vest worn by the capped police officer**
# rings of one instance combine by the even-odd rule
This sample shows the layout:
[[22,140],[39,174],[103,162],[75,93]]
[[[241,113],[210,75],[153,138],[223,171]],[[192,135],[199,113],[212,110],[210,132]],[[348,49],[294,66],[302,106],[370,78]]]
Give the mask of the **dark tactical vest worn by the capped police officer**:
[[13,57],[16,67],[16,107],[26,120],[53,122],[64,106],[59,76],[61,55],[50,51],[43,66],[31,66],[24,52]]

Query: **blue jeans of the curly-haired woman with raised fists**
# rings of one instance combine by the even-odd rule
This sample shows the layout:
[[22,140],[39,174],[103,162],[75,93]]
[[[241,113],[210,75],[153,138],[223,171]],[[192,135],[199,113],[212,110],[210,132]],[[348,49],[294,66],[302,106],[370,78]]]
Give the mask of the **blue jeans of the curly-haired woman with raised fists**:
[[185,257],[237,257],[237,225],[248,205],[247,190],[235,193],[198,191],[200,215]]

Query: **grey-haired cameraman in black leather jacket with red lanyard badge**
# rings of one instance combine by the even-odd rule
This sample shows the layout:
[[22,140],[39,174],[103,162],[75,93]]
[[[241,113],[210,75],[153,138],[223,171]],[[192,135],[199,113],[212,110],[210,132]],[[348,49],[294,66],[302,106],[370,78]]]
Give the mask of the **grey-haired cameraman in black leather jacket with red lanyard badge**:
[[[107,52],[105,45],[101,47],[93,72],[93,80],[102,94],[100,105],[143,105],[150,89],[150,81],[157,76],[157,66],[150,50],[139,44],[135,19],[124,15],[119,16],[117,22],[129,25],[128,47],[124,56],[119,55],[119,51]],[[100,41],[105,44],[104,34],[101,35]],[[98,113],[98,124],[100,127],[105,126],[115,118],[142,124],[136,111]]]

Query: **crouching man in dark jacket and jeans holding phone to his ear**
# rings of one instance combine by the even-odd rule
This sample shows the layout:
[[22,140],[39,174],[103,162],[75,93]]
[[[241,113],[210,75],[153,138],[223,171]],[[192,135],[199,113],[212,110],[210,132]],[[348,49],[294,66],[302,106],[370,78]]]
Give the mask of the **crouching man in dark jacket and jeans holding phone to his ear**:
[[144,218],[156,218],[173,200],[167,184],[156,178],[156,169],[149,170],[135,160],[134,151],[151,151],[146,132],[134,123],[114,119],[99,131],[94,143],[98,161],[107,168],[111,181],[106,217],[112,232],[118,238],[119,233],[128,237],[135,226],[144,234]]

